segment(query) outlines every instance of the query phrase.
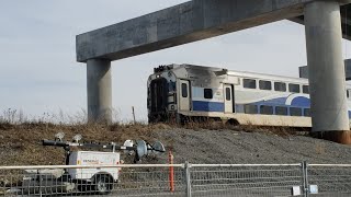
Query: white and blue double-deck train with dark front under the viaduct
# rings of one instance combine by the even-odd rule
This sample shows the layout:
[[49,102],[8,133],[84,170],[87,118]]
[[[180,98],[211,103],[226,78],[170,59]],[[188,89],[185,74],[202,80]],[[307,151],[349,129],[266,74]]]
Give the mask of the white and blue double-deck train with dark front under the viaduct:
[[[149,123],[214,118],[233,124],[312,127],[308,80],[193,65],[154,69]],[[351,86],[347,86],[349,116]]]

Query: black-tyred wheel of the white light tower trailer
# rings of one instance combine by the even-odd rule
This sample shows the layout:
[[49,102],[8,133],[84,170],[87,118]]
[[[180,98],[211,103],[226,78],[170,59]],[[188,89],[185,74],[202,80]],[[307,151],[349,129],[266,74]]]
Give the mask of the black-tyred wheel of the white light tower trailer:
[[93,190],[100,195],[106,195],[112,192],[113,178],[109,174],[98,174],[93,179]]

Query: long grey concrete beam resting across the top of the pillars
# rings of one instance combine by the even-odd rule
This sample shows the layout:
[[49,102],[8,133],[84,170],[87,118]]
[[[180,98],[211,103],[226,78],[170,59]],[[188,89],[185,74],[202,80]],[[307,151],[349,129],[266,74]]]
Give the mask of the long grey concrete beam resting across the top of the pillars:
[[77,60],[117,60],[303,15],[313,0],[193,0],[77,36]]

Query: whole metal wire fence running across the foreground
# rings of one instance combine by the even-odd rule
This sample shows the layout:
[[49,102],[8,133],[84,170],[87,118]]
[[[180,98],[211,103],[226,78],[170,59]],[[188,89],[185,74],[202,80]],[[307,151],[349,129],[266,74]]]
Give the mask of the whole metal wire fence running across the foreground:
[[0,166],[0,196],[351,196],[351,164]]

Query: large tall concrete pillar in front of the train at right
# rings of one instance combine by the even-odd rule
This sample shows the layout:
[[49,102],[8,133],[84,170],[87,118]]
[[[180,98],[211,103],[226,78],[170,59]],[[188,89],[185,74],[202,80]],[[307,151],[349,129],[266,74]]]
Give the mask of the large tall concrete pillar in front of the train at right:
[[305,27],[313,131],[350,130],[339,3],[306,4]]

